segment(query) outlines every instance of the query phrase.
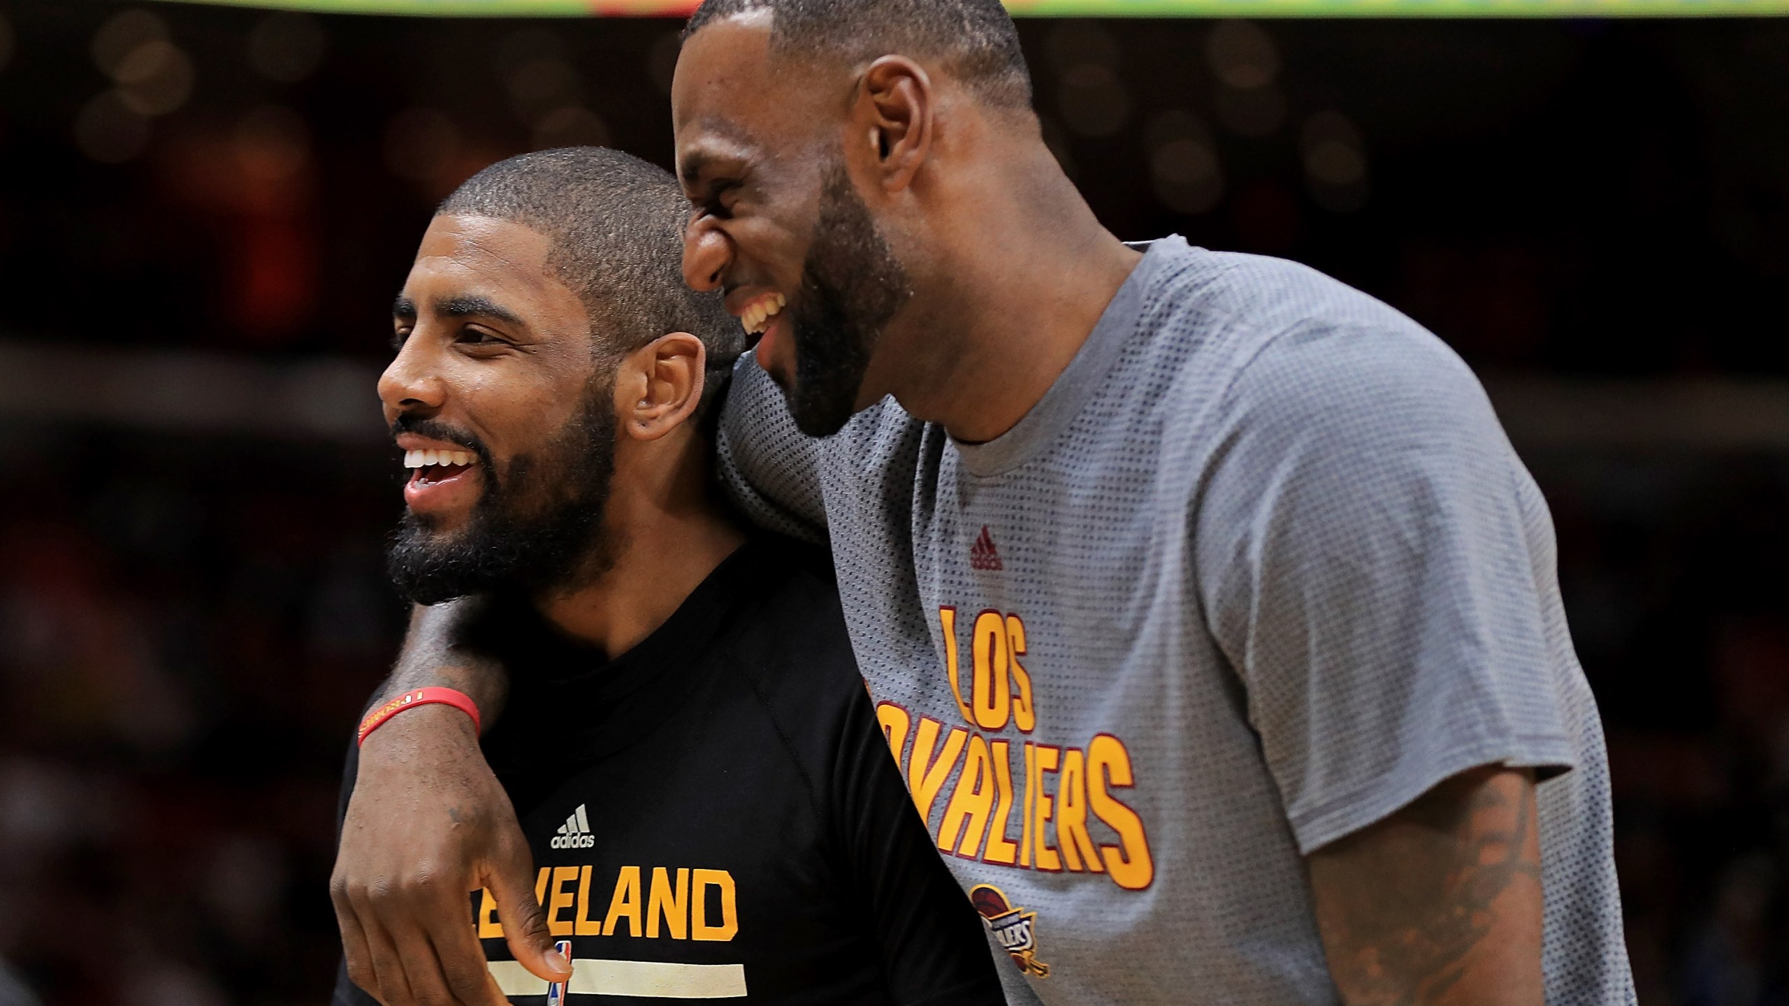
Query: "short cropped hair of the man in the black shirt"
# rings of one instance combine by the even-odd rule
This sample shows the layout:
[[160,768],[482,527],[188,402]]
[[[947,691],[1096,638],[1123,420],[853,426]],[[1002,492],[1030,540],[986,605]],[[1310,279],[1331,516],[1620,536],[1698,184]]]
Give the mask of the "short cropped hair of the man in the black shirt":
[[603,147],[537,150],[469,177],[435,213],[510,220],[544,234],[547,267],[583,301],[603,367],[666,333],[699,338],[708,351],[701,413],[746,349],[721,294],[683,283],[691,206],[657,165]]

